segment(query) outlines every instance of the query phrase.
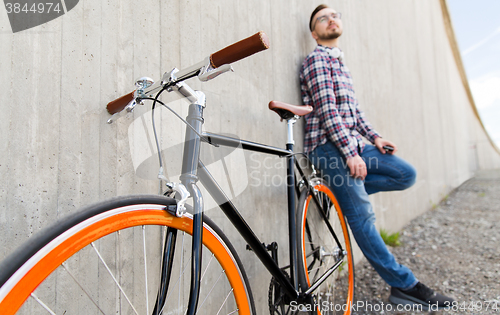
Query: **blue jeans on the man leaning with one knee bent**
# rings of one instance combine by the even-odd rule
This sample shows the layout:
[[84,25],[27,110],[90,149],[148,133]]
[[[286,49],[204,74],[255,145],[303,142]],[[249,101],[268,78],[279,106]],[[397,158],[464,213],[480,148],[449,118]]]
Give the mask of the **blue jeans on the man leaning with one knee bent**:
[[372,145],[366,145],[360,156],[368,172],[364,181],[350,176],[345,158],[330,141],[309,154],[332,188],[356,242],[373,268],[390,286],[410,289],[418,280],[408,267],[396,262],[387,249],[375,228],[375,214],[368,195],[412,186],[415,168],[395,155],[380,153]]

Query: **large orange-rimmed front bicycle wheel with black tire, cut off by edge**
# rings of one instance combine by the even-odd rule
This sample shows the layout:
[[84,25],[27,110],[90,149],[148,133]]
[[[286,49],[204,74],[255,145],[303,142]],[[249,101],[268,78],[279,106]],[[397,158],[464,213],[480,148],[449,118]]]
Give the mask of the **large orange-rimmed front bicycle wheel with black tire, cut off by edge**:
[[[163,314],[185,314],[191,280],[192,217],[177,218],[160,196],[116,198],[84,209],[0,265],[0,313],[152,314],[161,279],[162,242],[177,229]],[[198,314],[254,314],[234,248],[205,217]]]

